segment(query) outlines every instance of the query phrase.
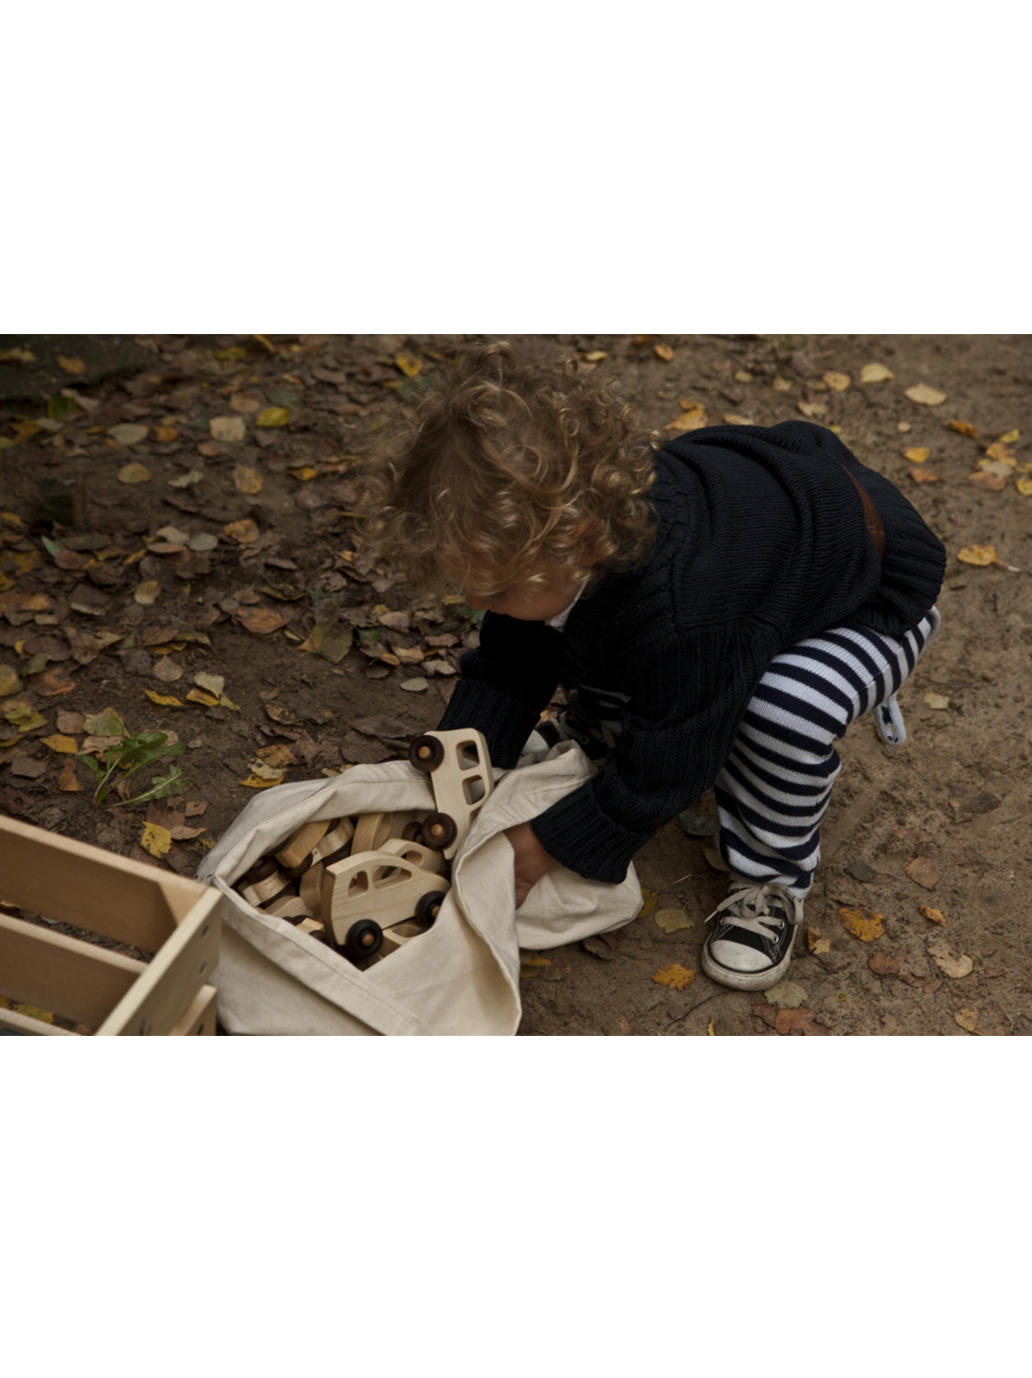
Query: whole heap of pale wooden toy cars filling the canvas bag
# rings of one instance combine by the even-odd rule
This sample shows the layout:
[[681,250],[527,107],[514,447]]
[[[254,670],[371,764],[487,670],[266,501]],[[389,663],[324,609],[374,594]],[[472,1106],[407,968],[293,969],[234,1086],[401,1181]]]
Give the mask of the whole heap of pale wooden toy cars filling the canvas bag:
[[479,732],[427,732],[408,754],[430,777],[435,809],[306,823],[236,885],[267,914],[368,966],[433,927],[451,860],[492,791]]

